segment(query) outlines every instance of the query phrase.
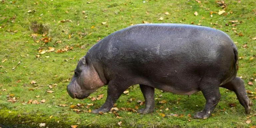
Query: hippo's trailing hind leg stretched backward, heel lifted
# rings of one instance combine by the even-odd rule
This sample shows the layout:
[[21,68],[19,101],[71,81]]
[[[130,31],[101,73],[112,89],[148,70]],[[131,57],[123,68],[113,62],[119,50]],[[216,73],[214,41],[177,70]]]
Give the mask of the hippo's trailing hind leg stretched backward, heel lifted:
[[241,78],[235,77],[233,80],[224,85],[221,85],[220,87],[235,92],[240,104],[245,108],[246,114],[251,113],[251,106],[253,103],[250,101],[246,94],[244,81]]

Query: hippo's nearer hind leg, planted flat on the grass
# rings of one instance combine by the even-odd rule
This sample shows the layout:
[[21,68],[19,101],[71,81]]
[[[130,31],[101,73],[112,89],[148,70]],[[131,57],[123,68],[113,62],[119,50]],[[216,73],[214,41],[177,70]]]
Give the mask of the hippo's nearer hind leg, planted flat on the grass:
[[219,85],[220,82],[212,78],[203,78],[201,80],[199,88],[206,99],[206,103],[203,111],[197,112],[194,115],[195,119],[207,119],[211,115],[221,97]]

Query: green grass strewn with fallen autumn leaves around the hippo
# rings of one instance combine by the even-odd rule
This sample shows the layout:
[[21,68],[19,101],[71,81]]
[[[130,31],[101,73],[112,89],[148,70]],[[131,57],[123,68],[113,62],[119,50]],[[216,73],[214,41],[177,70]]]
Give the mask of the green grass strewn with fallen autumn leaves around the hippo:
[[[229,14],[213,13],[211,17],[210,11],[223,10],[217,6],[215,0],[201,0],[201,3],[193,0],[149,0],[145,3],[140,0],[0,1],[0,124],[6,127],[38,127],[39,123],[46,123],[48,127],[78,125],[78,127],[123,128],[251,127],[256,125],[255,106],[252,107],[252,114],[248,115],[251,117],[247,118],[236,95],[222,88],[220,89],[221,101],[216,106],[213,115],[207,120],[197,120],[188,116],[189,114],[193,116],[195,112],[203,109],[205,99],[202,93],[188,97],[156,90],[155,97],[159,99],[155,101],[154,113],[138,115],[133,112],[118,111],[117,113],[122,117],[120,119],[111,113],[103,115],[76,113],[69,107],[78,103],[85,104],[85,106],[87,103],[93,103],[94,105],[89,108],[79,108],[88,111],[99,108],[104,103],[107,86],[91,94],[92,97],[104,94],[101,100],[78,100],[69,97],[66,85],[73,75],[72,70],[75,69],[79,58],[84,56],[99,38],[102,39],[131,24],[140,24],[142,21],[182,24],[194,22],[195,25],[201,24],[226,32],[234,42],[237,42],[239,57],[241,57],[238,76],[242,76],[246,90],[255,93],[256,82],[250,79],[256,79],[256,40],[252,40],[256,36],[256,3],[254,0],[225,2],[227,4],[225,11]],[[31,12],[28,12],[29,10]],[[198,12],[197,16],[194,15],[195,11]],[[165,15],[165,12],[169,12],[170,15]],[[160,17],[163,17],[163,20],[158,20]],[[60,22],[63,19],[69,19],[72,22]],[[238,20],[234,23],[236,26],[232,26],[229,22],[231,20]],[[37,34],[35,39],[31,37],[31,34],[35,33],[31,25],[34,21],[37,21],[39,28],[46,29],[46,37],[51,38],[48,43],[38,42],[45,37],[43,34]],[[102,22],[106,24],[102,25]],[[235,28],[237,33],[232,28]],[[38,33],[40,32],[44,31],[40,30]],[[243,36],[239,35],[240,32]],[[56,43],[60,40],[61,43]],[[244,46],[245,44],[247,47]],[[65,46],[73,47],[73,49],[55,53],[57,49],[63,49]],[[39,54],[38,49],[47,50],[48,47],[54,47],[55,51],[40,54],[39,58],[36,57]],[[5,59],[6,61],[2,62]],[[32,80],[36,81],[36,85],[30,84]],[[249,81],[254,84],[248,85]],[[57,85],[50,89],[49,85],[53,84]],[[3,91],[4,89],[6,91]],[[47,90],[54,92],[47,93]],[[135,85],[129,91],[129,95],[123,94],[118,99],[117,107],[135,109],[137,105],[142,108],[143,106],[137,103],[137,100],[144,101],[139,87]],[[38,95],[40,97],[36,98]],[[7,96],[15,97],[17,101],[8,102]],[[129,102],[131,98],[135,100]],[[46,102],[22,104],[30,99],[39,102],[45,99]],[[167,103],[159,103],[162,100],[166,100]],[[252,102],[256,104],[255,99]],[[59,104],[68,106],[60,107]],[[235,106],[230,107],[229,104]],[[166,108],[169,110],[165,111]],[[178,117],[161,117],[159,113],[165,115],[174,113],[178,114]],[[50,118],[50,116],[53,117]],[[246,124],[246,120],[252,120],[252,122]],[[121,126],[117,124],[119,121],[122,121]]]

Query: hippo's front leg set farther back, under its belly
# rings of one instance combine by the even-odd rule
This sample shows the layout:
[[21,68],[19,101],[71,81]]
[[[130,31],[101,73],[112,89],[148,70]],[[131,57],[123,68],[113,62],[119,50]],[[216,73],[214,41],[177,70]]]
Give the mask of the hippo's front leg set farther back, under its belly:
[[140,84],[140,90],[144,96],[146,107],[144,109],[138,110],[138,113],[147,114],[153,112],[155,109],[155,88]]

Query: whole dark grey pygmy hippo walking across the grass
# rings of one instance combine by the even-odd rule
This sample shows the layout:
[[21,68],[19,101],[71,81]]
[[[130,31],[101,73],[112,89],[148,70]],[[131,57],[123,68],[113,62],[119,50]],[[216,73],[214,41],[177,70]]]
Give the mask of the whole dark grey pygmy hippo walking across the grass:
[[206,104],[194,118],[206,119],[220,100],[219,87],[234,91],[251,112],[244,82],[236,77],[238,53],[227,34],[209,27],[140,24],[110,34],[78,62],[67,86],[72,98],[83,99],[108,85],[106,102],[92,113],[108,112],[128,87],[139,84],[145,108],[154,111],[154,89],[191,95],[202,91]]

